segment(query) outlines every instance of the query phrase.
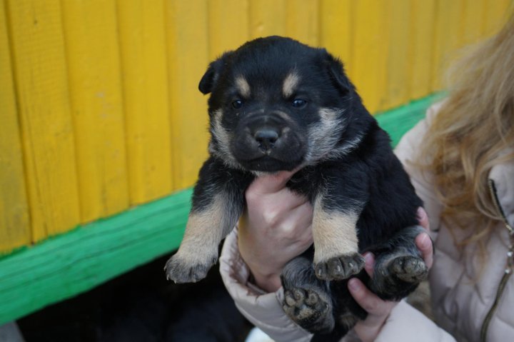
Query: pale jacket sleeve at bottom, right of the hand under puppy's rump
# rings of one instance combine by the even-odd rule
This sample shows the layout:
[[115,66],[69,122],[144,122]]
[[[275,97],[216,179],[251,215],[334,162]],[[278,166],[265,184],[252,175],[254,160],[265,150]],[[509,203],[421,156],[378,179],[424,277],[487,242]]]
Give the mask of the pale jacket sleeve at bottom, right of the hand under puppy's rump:
[[423,313],[400,301],[385,321],[375,342],[451,342],[455,339]]

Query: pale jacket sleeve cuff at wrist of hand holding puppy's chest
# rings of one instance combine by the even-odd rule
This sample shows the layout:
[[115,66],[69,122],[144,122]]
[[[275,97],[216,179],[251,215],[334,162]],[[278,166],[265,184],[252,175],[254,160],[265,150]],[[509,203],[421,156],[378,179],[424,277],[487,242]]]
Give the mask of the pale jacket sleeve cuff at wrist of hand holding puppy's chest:
[[310,341],[311,333],[297,326],[282,310],[283,289],[265,293],[248,282],[250,271],[239,254],[237,228],[223,244],[220,272],[238,310],[275,341]]

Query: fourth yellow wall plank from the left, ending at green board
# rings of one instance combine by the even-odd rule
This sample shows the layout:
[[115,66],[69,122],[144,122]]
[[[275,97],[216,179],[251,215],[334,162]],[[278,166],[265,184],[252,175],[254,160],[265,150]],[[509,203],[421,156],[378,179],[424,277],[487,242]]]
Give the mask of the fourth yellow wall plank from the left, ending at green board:
[[163,0],[118,0],[132,204],[171,192],[171,125]]

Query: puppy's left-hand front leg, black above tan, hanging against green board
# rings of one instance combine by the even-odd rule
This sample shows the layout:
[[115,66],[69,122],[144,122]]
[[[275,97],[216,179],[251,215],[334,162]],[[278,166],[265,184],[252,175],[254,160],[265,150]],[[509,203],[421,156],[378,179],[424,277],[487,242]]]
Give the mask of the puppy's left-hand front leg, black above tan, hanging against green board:
[[228,169],[218,159],[203,164],[193,192],[193,206],[178,251],[166,263],[166,276],[176,283],[199,281],[218,260],[218,245],[236,226],[244,191],[253,177]]

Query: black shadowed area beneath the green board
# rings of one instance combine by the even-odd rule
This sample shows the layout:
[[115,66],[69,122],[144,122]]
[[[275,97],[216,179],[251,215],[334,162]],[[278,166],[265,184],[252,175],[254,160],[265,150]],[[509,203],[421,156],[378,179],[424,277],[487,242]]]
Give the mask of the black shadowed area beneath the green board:
[[251,324],[234,306],[218,266],[195,284],[166,281],[169,256],[17,321],[26,342],[244,341]]

